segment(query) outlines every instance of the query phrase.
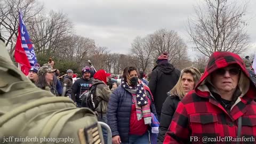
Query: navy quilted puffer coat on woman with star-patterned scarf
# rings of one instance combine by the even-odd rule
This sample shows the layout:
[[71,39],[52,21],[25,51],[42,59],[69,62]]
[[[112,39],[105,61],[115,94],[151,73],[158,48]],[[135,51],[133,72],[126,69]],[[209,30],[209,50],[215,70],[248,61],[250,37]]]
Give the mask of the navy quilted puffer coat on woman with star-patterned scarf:
[[[147,95],[151,97],[147,91]],[[122,142],[129,142],[130,115],[132,108],[132,94],[118,86],[111,94],[108,102],[107,120],[110,126],[112,137],[119,135]],[[154,101],[151,99],[151,113],[156,114]]]

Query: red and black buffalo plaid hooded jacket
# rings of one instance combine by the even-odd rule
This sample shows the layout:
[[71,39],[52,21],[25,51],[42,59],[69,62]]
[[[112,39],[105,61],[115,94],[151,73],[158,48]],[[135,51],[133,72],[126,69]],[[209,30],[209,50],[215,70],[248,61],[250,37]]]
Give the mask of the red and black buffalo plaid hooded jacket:
[[247,140],[241,143],[256,143],[256,103],[253,101],[256,88],[251,80],[247,81],[249,90],[238,98],[239,102],[231,108],[230,113],[209,91],[198,89],[214,70],[232,64],[241,67],[245,78],[250,77],[243,60],[237,54],[214,52],[195,90],[190,91],[179,103],[164,143],[236,143],[241,140],[234,139],[237,137],[239,117],[242,117],[242,140]]

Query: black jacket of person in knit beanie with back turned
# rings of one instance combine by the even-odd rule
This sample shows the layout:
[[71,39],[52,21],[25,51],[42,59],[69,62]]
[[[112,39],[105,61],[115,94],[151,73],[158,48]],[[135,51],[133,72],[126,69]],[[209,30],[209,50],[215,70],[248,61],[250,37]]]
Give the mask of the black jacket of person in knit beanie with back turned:
[[169,92],[178,82],[180,70],[175,69],[171,63],[161,63],[153,69],[151,78],[148,84],[156,106],[156,113],[161,115],[161,109],[167,92]]

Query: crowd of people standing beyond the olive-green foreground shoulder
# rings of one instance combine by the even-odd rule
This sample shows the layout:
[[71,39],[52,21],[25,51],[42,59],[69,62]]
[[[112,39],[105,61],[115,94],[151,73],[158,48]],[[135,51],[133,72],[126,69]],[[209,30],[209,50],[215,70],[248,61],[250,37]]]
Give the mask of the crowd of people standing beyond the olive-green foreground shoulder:
[[[103,69],[96,72],[86,66],[81,73],[77,78],[68,69],[61,82],[50,59],[31,68],[28,78],[56,96],[69,97],[78,108],[83,107],[83,94],[95,86],[100,103],[94,111],[98,121],[110,126],[114,144],[193,143],[191,137],[205,136],[256,138],[256,76],[249,57],[214,52],[201,74],[195,67],[178,70],[163,53],[149,82],[135,67],[123,70],[119,84]],[[107,130],[102,128],[102,133],[107,143]]]

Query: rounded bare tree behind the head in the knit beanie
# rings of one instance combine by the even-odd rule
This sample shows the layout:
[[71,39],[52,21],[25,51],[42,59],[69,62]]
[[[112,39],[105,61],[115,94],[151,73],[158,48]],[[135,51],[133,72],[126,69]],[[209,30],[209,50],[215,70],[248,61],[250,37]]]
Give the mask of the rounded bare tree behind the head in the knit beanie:
[[164,52],[169,53],[169,62],[178,68],[185,68],[190,62],[187,45],[173,30],[159,29],[144,38],[136,37],[130,51],[132,65],[147,73],[154,67],[158,56]]

